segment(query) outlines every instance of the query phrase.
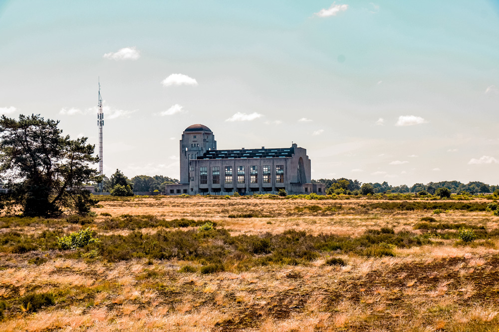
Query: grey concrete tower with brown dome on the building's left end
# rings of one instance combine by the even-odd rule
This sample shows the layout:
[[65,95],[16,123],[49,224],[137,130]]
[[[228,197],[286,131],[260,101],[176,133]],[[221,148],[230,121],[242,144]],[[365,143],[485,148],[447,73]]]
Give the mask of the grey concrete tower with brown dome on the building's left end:
[[216,149],[217,141],[210,128],[200,123],[188,126],[180,140],[180,183],[189,183],[189,163],[192,159]]

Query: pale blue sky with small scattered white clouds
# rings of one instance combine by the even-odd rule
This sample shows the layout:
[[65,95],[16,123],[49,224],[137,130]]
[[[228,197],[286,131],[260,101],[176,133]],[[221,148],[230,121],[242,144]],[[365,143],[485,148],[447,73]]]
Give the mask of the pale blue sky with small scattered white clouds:
[[179,178],[202,123],[313,179],[499,183],[499,0],[0,0],[1,114],[98,144],[99,79],[108,176]]

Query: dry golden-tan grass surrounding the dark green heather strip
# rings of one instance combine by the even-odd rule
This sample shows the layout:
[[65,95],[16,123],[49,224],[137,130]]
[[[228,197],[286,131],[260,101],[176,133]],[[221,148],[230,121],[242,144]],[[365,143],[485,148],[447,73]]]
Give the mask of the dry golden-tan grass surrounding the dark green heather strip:
[[[232,234],[277,234],[294,228],[352,237],[369,228],[412,230],[422,217],[431,216],[428,211],[367,212],[363,203],[193,197],[101,202],[104,207],[95,211],[211,220]],[[342,208],[296,213],[296,207],[311,205]],[[248,211],[265,217],[228,217]],[[466,211],[436,218],[487,229],[497,228],[499,220],[490,213]],[[98,217],[92,227],[101,232],[103,220]],[[43,230],[40,226],[26,232]],[[0,299],[7,301],[0,331],[497,331],[499,238],[487,246],[440,242],[395,248],[395,257],[326,253],[305,265],[214,274],[180,273],[182,266],[199,271],[201,264],[179,260],[110,263],[44,252],[47,261],[35,265],[28,263],[28,253],[0,253]],[[347,265],[326,265],[333,254]],[[55,293],[55,306],[36,314],[19,310],[19,297],[48,291]]]

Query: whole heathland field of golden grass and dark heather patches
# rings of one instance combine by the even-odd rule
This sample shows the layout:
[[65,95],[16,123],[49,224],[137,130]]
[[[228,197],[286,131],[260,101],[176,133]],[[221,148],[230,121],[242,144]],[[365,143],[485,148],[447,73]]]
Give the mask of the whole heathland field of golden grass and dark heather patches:
[[0,331],[498,331],[493,196],[315,198],[0,217]]

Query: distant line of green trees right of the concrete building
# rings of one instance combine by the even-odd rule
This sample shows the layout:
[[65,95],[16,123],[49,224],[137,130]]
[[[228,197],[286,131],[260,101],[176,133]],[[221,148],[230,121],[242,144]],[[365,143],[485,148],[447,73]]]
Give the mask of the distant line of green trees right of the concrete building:
[[[348,182],[348,183],[347,183]],[[340,179],[319,179],[312,180],[312,183],[325,183],[326,191],[331,188],[333,190],[344,190],[354,192],[356,190],[360,190],[362,186],[362,182],[358,180],[340,178]],[[499,189],[499,185],[489,185],[487,183],[474,181],[468,182],[464,184],[459,181],[441,181],[441,182],[430,182],[427,184],[416,183],[412,185],[412,187],[408,187],[407,185],[400,186],[390,186],[386,181],[383,183],[368,183],[374,188],[375,193],[419,193],[422,191],[426,191],[429,194],[435,194],[435,191],[438,188],[447,188],[453,193],[462,193],[468,192],[470,194],[477,193],[493,193]]]

